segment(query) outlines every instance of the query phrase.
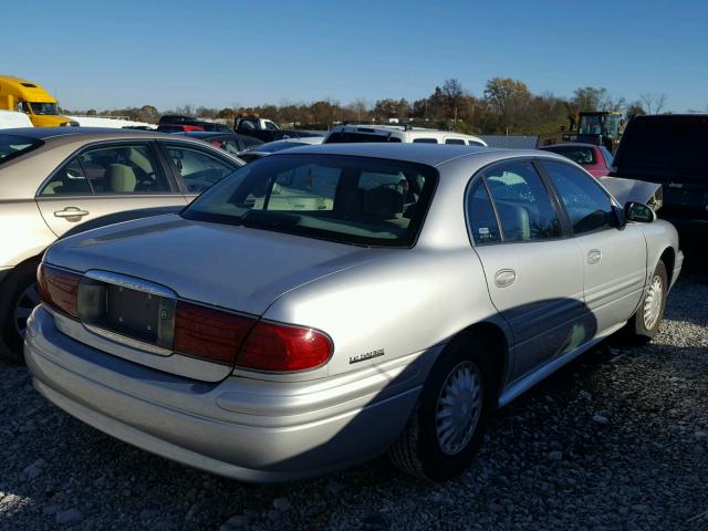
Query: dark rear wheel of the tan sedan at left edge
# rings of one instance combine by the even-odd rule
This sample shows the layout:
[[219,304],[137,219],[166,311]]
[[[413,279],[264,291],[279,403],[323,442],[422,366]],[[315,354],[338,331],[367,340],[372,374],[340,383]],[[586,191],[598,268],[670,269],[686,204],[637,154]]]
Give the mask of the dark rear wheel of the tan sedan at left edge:
[[2,284],[8,299],[2,309],[0,357],[24,364],[23,343],[27,317],[39,304],[37,294],[37,263],[21,264],[8,275]]

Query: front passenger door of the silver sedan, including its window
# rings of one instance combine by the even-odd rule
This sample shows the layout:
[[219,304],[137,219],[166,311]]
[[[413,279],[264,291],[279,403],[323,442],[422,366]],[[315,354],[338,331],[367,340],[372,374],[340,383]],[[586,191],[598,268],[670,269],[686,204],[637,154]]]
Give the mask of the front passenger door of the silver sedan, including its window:
[[611,196],[580,168],[543,160],[583,252],[585,304],[605,331],[635,312],[646,282],[646,240],[638,223],[620,226]]

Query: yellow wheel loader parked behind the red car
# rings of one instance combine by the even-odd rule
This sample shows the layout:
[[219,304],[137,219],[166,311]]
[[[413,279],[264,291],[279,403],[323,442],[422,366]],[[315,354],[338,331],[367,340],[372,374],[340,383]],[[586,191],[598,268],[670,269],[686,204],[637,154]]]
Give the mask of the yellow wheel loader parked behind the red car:
[[568,116],[569,129],[539,136],[537,147],[582,142],[605,146],[614,153],[624,131],[624,118],[618,111],[582,111]]

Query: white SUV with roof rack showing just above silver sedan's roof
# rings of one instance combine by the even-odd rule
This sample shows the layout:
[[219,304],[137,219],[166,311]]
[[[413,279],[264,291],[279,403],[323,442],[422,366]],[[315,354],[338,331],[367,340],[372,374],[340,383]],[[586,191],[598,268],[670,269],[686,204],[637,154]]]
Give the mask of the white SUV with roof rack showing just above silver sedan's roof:
[[355,142],[403,142],[414,144],[458,144],[487,147],[481,138],[454,131],[427,129],[408,125],[337,125],[330,129],[324,144]]

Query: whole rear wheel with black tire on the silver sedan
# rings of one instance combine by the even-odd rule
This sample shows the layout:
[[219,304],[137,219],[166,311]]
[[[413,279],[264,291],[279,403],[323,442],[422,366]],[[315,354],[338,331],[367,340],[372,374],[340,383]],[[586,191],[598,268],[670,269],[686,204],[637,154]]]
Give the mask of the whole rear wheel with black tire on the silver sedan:
[[[457,379],[457,387],[456,378],[461,378]],[[469,387],[467,384],[471,382],[477,385]],[[460,386],[462,397],[452,393]],[[470,388],[477,392],[470,393]],[[433,366],[416,409],[389,448],[391,460],[402,471],[431,481],[460,475],[482,441],[496,407],[496,394],[493,369],[485,345],[473,339],[450,345]],[[458,413],[449,415],[455,409]],[[457,418],[458,421],[451,424],[462,427],[457,437],[445,429],[447,418]]]

